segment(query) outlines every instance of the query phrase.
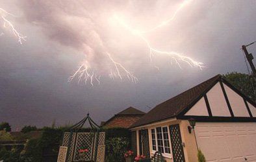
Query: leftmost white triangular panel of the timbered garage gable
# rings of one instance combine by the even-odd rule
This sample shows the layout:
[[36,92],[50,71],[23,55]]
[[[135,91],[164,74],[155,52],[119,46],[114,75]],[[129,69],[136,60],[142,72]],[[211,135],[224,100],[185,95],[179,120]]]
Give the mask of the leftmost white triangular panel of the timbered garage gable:
[[205,98],[201,98],[185,115],[209,116]]

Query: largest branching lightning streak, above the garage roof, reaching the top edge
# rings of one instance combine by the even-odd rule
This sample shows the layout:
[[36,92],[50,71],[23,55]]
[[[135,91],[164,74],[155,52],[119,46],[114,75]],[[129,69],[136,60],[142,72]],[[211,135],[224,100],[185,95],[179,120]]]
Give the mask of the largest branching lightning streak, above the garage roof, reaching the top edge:
[[202,69],[203,63],[202,62],[196,62],[195,60],[193,60],[192,58],[188,57],[188,56],[183,56],[183,54],[179,54],[178,52],[168,52],[168,51],[160,51],[159,49],[155,49],[153,48],[149,41],[146,39],[146,37],[143,35],[147,32],[153,32],[154,30],[159,29],[160,27],[167,25],[168,23],[170,23],[171,21],[173,21],[173,19],[175,19],[177,13],[179,12],[179,10],[181,10],[181,8],[183,8],[186,4],[188,4],[189,1],[184,1],[179,8],[177,8],[177,10],[175,10],[174,14],[172,17],[170,17],[170,19],[163,21],[162,23],[160,23],[159,25],[153,27],[152,29],[149,30],[145,30],[145,31],[140,31],[140,30],[136,30],[136,29],[132,29],[129,25],[127,25],[125,23],[125,21],[123,21],[122,19],[120,19],[120,17],[118,16],[114,16],[114,18],[123,26],[125,27],[125,29],[129,30],[132,34],[134,34],[135,36],[138,36],[141,40],[143,40],[146,43],[147,48],[149,49],[149,58],[150,58],[150,62],[152,62],[152,55],[153,53],[157,53],[157,54],[166,54],[168,56],[172,56],[173,60],[175,60],[176,64],[179,65],[179,67],[181,68],[181,65],[179,64],[179,62],[177,60],[182,60],[183,62],[186,62],[188,65],[190,65],[191,67],[199,67],[200,69]]

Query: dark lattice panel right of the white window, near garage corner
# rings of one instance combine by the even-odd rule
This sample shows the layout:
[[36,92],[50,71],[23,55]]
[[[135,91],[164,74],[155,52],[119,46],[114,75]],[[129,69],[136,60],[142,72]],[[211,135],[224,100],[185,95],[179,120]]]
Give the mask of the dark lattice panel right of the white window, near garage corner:
[[172,142],[173,162],[184,162],[183,146],[181,145],[181,131],[179,124],[170,126],[170,136]]

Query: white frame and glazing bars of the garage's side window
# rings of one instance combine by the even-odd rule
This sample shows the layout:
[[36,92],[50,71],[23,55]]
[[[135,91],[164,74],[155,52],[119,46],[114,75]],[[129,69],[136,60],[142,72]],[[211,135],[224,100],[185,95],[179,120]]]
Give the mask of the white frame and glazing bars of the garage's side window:
[[[164,157],[168,157],[168,158],[172,158],[172,145],[171,145],[171,139],[170,139],[170,129],[169,129],[169,126],[157,126],[157,127],[154,127],[154,128],[150,128],[150,135],[151,135],[151,153],[152,154],[155,154],[155,152],[158,151],[158,142],[157,142],[157,128],[160,127],[161,130],[162,128],[164,127],[167,127],[167,132],[168,132],[168,141],[169,141],[169,146],[170,146],[170,154],[169,153],[165,153],[165,145],[164,145],[164,133],[162,131],[162,144],[164,146],[164,153],[162,153],[162,156]],[[152,143],[152,132],[151,130],[155,130],[155,145],[156,145],[156,150],[153,150],[153,143]]]

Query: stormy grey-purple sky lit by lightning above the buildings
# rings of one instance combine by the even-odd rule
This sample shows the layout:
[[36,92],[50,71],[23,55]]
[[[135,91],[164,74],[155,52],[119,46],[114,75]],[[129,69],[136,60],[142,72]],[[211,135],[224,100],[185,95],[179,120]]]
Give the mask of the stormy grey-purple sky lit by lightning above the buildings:
[[0,19],[0,122],[60,126],[89,112],[99,123],[129,106],[147,112],[217,74],[248,73],[240,47],[256,41],[255,6],[0,0],[13,14],[0,16],[27,36],[19,43]]

